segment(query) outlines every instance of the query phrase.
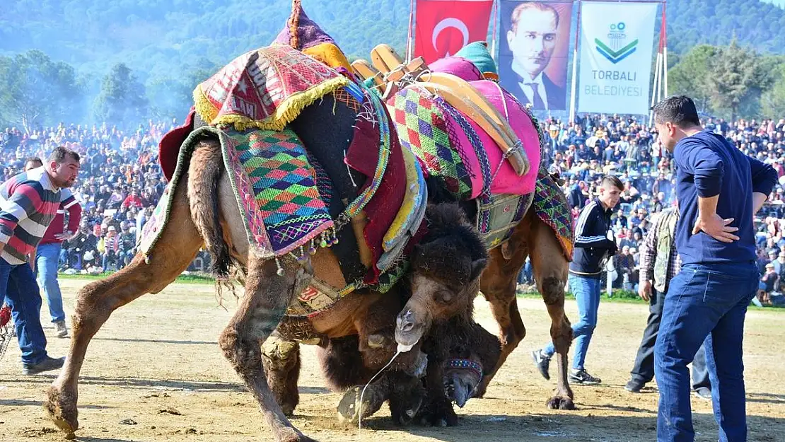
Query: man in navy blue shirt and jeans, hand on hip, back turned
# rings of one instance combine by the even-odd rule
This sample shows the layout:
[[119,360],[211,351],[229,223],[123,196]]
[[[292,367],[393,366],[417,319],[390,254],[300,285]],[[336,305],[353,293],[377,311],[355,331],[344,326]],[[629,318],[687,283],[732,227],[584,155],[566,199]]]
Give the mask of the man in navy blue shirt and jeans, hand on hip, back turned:
[[776,184],[771,166],[704,131],[688,97],[652,108],[659,142],[673,152],[681,218],[681,272],[670,282],[655,344],[657,440],[692,442],[692,362],[705,340],[721,442],[747,440],[742,340],[747,305],[758,290],[753,217]]

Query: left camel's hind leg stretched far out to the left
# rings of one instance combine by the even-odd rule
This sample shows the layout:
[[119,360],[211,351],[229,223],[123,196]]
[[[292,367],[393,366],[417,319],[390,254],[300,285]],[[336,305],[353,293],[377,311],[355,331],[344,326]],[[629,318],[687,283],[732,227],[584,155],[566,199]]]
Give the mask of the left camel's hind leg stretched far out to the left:
[[60,429],[73,433],[79,428],[76,402],[79,396],[79,371],[90,339],[108,320],[111,312],[146,293],[158,293],[177,278],[193,261],[202,240],[188,210],[186,186],[177,188],[159,242],[150,263],[137,255],[130,265],[106,279],[87,284],[76,295],[71,316],[71,346],[60,375],[46,392],[44,408]]

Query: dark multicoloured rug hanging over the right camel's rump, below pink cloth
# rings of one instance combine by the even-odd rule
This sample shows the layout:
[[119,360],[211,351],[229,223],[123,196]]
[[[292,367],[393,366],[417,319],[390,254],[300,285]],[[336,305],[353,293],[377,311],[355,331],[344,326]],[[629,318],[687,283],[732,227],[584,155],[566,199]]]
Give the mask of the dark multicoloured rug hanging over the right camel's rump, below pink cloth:
[[535,210],[537,217],[556,233],[561,250],[564,252],[564,258],[572,261],[574,242],[570,204],[567,202],[564,192],[561,192],[559,185],[544,169],[540,169],[537,174],[537,190],[531,207]]

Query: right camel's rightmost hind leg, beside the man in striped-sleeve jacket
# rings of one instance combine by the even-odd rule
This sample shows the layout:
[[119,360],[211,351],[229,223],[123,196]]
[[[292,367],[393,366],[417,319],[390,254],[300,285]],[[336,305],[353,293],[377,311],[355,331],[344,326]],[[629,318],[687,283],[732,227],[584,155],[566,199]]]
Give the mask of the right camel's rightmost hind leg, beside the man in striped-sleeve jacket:
[[553,230],[539,219],[532,221],[528,243],[531,244],[531,267],[550,315],[550,337],[557,353],[557,386],[547,405],[552,409],[574,410],[572,390],[567,380],[567,354],[572,342],[570,321],[564,314],[564,285],[569,261],[564,258]]

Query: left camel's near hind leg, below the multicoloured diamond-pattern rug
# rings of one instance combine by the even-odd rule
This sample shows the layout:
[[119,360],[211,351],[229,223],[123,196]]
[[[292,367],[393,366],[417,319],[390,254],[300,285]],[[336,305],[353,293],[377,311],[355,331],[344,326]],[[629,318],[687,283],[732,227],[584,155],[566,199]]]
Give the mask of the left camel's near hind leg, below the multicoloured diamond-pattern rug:
[[284,274],[277,276],[276,261],[261,261],[250,254],[245,297],[218,338],[218,345],[254,395],[275,440],[306,442],[312,439],[295,429],[283,414],[262,367],[260,344],[276,330],[290,300],[305,288],[312,276],[293,260],[287,259],[283,264]]

